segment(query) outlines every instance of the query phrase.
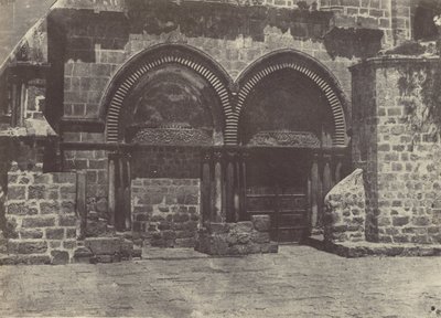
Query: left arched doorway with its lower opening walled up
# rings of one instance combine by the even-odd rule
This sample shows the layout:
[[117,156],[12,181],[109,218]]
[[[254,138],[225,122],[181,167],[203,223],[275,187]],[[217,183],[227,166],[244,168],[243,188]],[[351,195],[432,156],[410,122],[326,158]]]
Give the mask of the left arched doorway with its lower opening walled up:
[[[149,198],[155,202],[154,209],[169,201],[178,202],[175,205],[187,201],[189,194],[180,189],[187,181],[175,180],[200,180],[202,150],[224,145],[225,113],[232,112],[227,86],[228,77],[213,61],[178,44],[147,50],[117,74],[104,99],[107,142],[118,149],[109,157],[109,212],[117,229],[148,232],[151,225],[152,215],[147,211],[151,210],[150,203],[141,206],[146,211],[139,212],[143,213],[140,220],[130,215],[130,184],[135,178],[175,186],[175,198],[162,192],[159,199]],[[197,204],[198,199],[192,201]],[[161,206],[158,209],[166,210]],[[183,206],[182,211],[189,209]],[[209,213],[207,209],[205,212]],[[157,219],[179,216],[178,212],[162,214]]]

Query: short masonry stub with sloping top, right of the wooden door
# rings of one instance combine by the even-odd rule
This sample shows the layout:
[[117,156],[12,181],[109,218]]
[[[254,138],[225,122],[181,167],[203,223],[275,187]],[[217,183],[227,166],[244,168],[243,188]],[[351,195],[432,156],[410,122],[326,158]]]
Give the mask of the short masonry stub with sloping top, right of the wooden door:
[[324,240],[365,240],[365,188],[363,170],[356,169],[338,182],[324,199]]

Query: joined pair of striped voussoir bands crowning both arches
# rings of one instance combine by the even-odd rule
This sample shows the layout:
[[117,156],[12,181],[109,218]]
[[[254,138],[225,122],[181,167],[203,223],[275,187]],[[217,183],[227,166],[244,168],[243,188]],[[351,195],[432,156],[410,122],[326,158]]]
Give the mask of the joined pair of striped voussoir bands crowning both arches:
[[[322,89],[333,113],[335,125],[333,144],[336,147],[346,146],[346,123],[344,116],[344,107],[342,105],[342,97],[337,96],[338,93],[336,92],[338,91],[333,87],[334,85],[332,81],[319,74],[318,72],[312,71],[314,70],[314,67],[302,62],[302,59],[304,60],[304,56],[302,56],[302,59],[299,59],[299,63],[295,61],[280,62],[277,59],[271,59],[271,56],[269,56],[263,59],[266,62],[255,63],[256,65],[251,65],[249,67],[249,72],[244,72],[245,74],[251,75],[247,75],[245,81],[239,80],[239,89],[237,92],[237,98],[235,102],[236,105],[233,106],[232,92],[227,87],[232,83],[232,81],[229,81],[225,72],[223,72],[222,70],[217,70],[218,65],[216,65],[215,62],[211,60],[208,60],[208,62],[205,61],[209,57],[204,56],[201,52],[193,51],[196,50],[187,49],[185,46],[180,47],[180,50],[170,50],[170,52],[168,52],[168,50],[161,50],[161,54],[153,54],[149,59],[144,59],[141,63],[137,63],[137,67],[130,67],[130,71],[122,72],[122,80],[118,77],[118,81],[114,81],[120,84],[116,85],[116,87],[112,89],[112,92],[115,93],[110,92],[110,100],[104,102],[109,105],[106,120],[107,142],[118,142],[119,140],[119,115],[121,108],[123,107],[125,99],[129,95],[131,88],[135,87],[137,83],[142,78],[142,76],[146,75],[149,71],[168,63],[174,63],[190,67],[191,70],[200,74],[209,83],[209,85],[216,92],[225,116],[225,145],[238,145],[238,125],[240,113],[244,108],[244,105],[246,104],[247,97],[256,87],[256,85],[271,73],[286,68],[291,68],[308,76],[318,85],[318,87]],[[273,57],[276,56],[278,56],[277,53],[273,54]],[[295,56],[293,57],[295,59]],[[268,65],[261,68],[261,64],[263,63]],[[255,70],[258,70],[259,67],[261,70],[256,72]]]

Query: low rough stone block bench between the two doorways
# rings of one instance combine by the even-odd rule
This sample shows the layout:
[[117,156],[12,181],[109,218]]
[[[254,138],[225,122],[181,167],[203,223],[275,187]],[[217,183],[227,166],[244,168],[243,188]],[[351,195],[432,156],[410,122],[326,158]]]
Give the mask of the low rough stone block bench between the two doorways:
[[278,244],[270,241],[269,215],[252,215],[251,221],[208,223],[197,233],[195,250],[209,255],[247,255],[277,253]]

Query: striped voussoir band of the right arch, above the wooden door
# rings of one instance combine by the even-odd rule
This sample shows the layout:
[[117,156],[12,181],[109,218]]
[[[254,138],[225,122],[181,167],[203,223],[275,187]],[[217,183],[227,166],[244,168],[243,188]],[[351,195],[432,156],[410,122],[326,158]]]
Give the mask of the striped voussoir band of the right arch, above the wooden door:
[[[270,53],[251,64],[237,80],[239,92],[237,94],[237,104],[233,120],[229,120],[226,131],[237,131],[236,140],[229,142],[238,142],[238,126],[240,114],[246,105],[246,100],[252,89],[260,81],[275,72],[282,70],[292,70],[310,78],[323,92],[329,106],[331,107],[334,120],[334,147],[345,147],[347,145],[346,137],[346,98],[343,95],[340,84],[334,76],[319,61],[306,56],[303,53],[289,50],[282,52]],[[229,134],[233,135],[233,134]]]

